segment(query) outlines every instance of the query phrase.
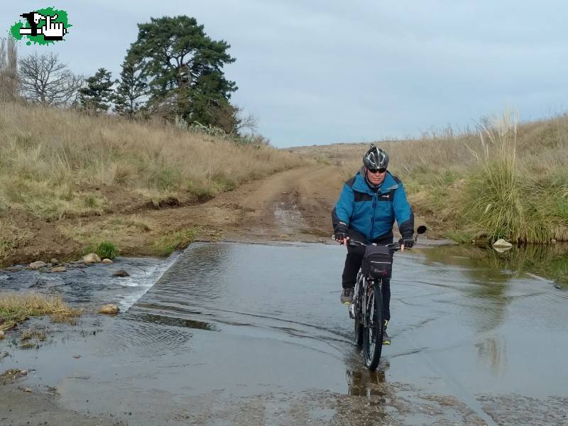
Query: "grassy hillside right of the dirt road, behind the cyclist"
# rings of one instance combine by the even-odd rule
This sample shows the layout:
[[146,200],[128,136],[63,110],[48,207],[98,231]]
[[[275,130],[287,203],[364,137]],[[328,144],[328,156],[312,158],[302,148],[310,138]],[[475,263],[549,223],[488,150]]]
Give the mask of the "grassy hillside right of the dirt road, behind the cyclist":
[[[518,125],[514,114],[482,120],[477,131],[446,129],[409,141],[381,141],[391,172],[418,214],[460,242],[506,238],[568,240],[568,116]],[[359,169],[366,143],[292,148]]]

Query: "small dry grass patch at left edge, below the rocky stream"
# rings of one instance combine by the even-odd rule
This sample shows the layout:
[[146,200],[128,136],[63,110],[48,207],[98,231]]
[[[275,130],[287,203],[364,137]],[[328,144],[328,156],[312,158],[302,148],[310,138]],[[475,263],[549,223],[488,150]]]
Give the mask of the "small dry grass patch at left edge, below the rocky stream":
[[12,329],[29,317],[50,315],[53,322],[74,323],[81,310],[73,309],[61,297],[36,293],[4,293],[0,295],[0,330]]

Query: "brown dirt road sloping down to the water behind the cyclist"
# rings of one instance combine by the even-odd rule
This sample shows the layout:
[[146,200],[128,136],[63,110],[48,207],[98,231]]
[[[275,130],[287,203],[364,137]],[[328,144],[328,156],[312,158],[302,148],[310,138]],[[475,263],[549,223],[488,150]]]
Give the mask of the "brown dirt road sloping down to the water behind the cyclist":
[[182,220],[188,214],[205,226],[223,229],[229,239],[320,241],[331,234],[331,210],[342,182],[333,166],[288,170],[168,213]]

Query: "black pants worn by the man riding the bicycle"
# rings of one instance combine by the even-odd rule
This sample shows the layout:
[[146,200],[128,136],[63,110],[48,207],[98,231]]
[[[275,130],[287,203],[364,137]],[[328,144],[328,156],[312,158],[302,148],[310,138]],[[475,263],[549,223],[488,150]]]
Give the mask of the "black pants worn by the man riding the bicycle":
[[[349,239],[360,241],[368,244],[363,234],[354,229],[349,228]],[[391,244],[393,242],[393,234],[382,236],[373,240],[376,244]],[[342,275],[343,288],[354,288],[357,280],[357,273],[361,268],[361,262],[365,256],[365,247],[363,246],[347,246],[347,257],[345,258],[345,267]],[[391,280],[383,280],[383,312],[384,319],[391,319]]]

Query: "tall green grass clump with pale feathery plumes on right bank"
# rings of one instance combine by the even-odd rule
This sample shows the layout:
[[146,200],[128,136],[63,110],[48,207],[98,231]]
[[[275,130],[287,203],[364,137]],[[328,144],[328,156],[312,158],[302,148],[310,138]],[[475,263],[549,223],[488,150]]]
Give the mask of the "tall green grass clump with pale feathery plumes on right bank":
[[516,161],[516,114],[486,119],[480,126],[480,163],[466,183],[464,217],[491,241],[544,243],[555,235],[559,217],[550,208],[547,185],[527,178]]

